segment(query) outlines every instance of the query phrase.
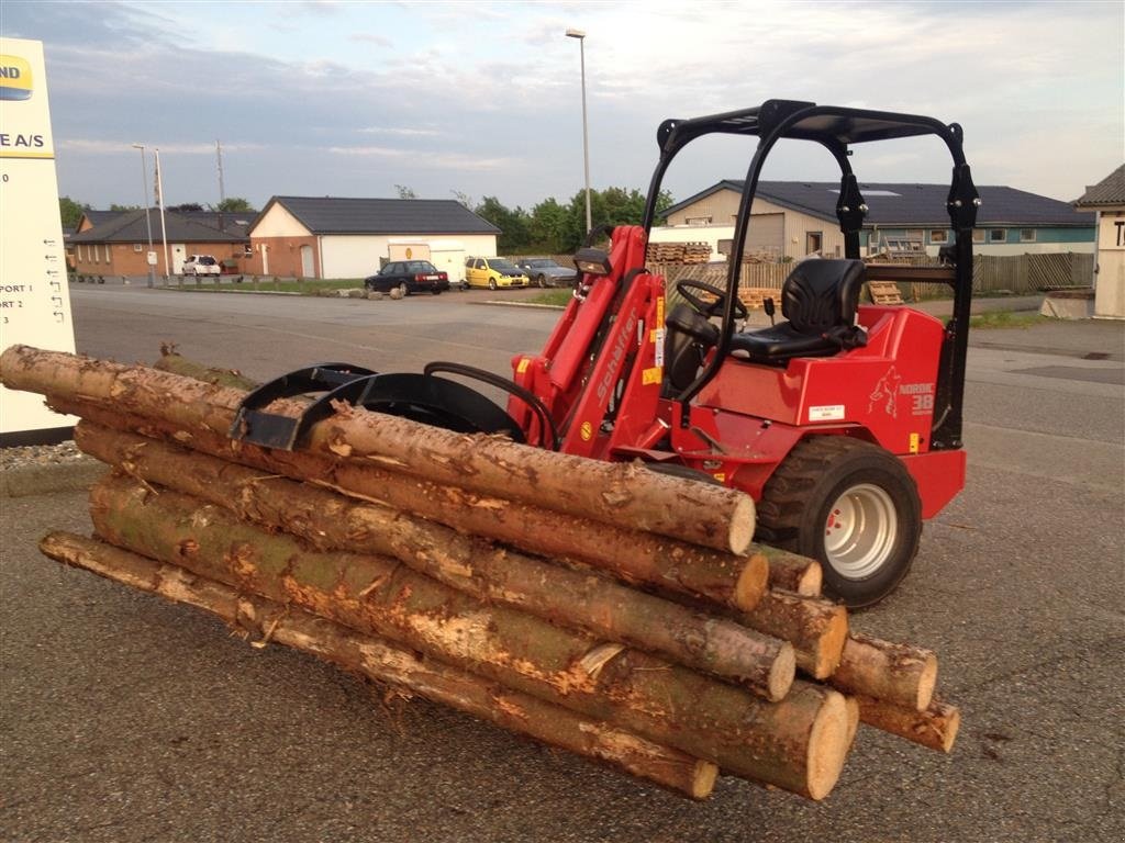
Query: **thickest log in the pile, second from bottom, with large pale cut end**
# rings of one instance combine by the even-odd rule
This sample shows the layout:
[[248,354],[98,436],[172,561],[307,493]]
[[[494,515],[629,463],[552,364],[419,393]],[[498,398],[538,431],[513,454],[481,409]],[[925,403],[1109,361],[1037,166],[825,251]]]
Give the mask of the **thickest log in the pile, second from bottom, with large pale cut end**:
[[453,667],[612,722],[721,770],[821,799],[847,753],[838,691],[794,682],[766,703],[620,644],[479,601],[393,560],[304,551],[225,509],[107,478],[91,518],[110,543],[389,637]]

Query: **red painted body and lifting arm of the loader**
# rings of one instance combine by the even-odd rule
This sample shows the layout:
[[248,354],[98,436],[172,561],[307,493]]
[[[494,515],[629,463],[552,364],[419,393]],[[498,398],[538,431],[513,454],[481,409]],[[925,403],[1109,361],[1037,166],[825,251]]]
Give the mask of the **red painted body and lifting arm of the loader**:
[[[902,459],[918,484],[922,517],[964,487],[962,451],[929,451],[945,328],[907,307],[863,306],[867,344],[784,368],[723,361],[691,401],[660,397],[664,279],[644,272],[645,233],[620,227],[612,272],[592,279],[567,307],[538,357],[513,359],[514,380],[543,401],[566,453],[603,460],[680,462],[762,497],[766,481],[802,438],[844,435]],[[626,278],[630,271],[637,271]],[[624,284],[624,287],[622,287]],[[518,398],[508,413],[541,443]]]

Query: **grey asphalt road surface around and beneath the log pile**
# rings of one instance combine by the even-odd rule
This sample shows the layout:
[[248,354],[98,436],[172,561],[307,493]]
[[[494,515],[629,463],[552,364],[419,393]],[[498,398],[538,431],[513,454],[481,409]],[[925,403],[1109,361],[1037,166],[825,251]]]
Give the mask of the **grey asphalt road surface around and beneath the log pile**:
[[[359,301],[75,289],[79,350],[161,342],[264,379],[312,362],[507,371],[556,314],[486,293]],[[34,550],[81,495],[4,501],[0,837],[18,841],[1076,841],[1125,828],[1123,326],[978,332],[969,487],[853,626],[939,653],[951,755],[862,729],[822,804],[720,781],[700,805]],[[1086,357],[1100,359],[1086,359]]]

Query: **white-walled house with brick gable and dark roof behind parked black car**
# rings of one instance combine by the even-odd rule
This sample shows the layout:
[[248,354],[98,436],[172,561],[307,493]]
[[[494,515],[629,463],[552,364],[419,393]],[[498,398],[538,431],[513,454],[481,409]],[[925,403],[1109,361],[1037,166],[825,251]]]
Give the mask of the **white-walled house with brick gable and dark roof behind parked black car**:
[[[431,260],[440,252],[450,257],[448,266],[434,260],[439,269],[464,272],[464,255],[496,254],[500,233],[453,199],[276,196],[250,225],[246,271],[364,278],[397,248]],[[450,280],[458,280],[452,272]]]

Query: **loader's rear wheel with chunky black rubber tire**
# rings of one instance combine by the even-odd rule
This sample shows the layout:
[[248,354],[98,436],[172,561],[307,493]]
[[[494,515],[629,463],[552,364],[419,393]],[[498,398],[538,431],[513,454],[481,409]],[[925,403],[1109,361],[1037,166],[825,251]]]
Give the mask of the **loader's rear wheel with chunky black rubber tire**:
[[[836,520],[834,535],[829,516],[845,493],[845,515]],[[865,501],[865,515],[849,524],[846,513],[855,501]],[[818,560],[826,593],[852,608],[891,593],[910,570],[921,538],[918,487],[902,461],[847,436],[800,442],[762,490],[757,517],[757,541]],[[835,517],[840,518],[840,508],[835,508]],[[844,546],[834,561],[829,542],[842,538]],[[865,541],[879,547],[865,551]],[[848,570],[847,564],[856,568]]]

